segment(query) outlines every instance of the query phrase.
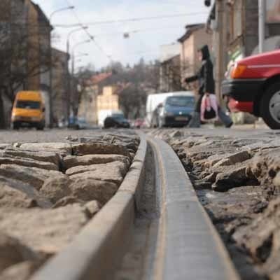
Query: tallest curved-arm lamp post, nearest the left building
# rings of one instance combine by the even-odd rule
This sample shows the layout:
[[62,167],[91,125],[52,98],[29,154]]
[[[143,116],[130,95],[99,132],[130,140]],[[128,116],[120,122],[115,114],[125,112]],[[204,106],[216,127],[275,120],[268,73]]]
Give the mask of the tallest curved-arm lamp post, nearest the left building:
[[[50,14],[50,27],[51,27],[51,22],[52,18],[55,14],[63,12],[64,10],[73,10],[75,8],[74,6],[67,6],[64,8],[59,8],[58,10],[54,10]],[[51,27],[52,28],[52,27]],[[49,45],[49,56],[50,56],[50,96],[49,96],[49,107],[50,107],[50,128],[53,127],[53,110],[52,110],[52,36],[51,36],[52,29],[50,29],[50,45]]]

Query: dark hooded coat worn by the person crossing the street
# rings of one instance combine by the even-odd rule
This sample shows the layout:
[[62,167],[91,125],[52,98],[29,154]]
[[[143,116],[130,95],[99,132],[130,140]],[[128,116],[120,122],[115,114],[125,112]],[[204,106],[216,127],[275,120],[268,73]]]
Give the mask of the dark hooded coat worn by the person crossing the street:
[[210,59],[208,45],[204,45],[200,50],[202,52],[202,66],[200,68],[200,71],[198,71],[195,76],[186,78],[186,83],[191,83],[195,80],[199,80],[199,94],[203,95],[205,92],[215,93],[213,64]]

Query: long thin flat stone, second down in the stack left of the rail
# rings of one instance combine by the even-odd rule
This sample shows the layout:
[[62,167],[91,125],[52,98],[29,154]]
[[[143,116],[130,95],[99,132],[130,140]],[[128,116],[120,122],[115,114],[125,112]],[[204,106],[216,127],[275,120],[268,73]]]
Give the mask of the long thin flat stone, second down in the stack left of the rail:
[[130,165],[130,158],[124,155],[82,155],[80,157],[69,155],[63,159],[65,169],[79,165],[100,165],[116,161],[124,162],[127,166]]

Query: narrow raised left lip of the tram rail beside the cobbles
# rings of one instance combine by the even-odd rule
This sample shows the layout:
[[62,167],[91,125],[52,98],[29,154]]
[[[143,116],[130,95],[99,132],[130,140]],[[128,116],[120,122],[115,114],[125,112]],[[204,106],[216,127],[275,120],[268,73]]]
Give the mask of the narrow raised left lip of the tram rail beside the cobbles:
[[132,235],[144,183],[147,141],[144,134],[139,136],[137,154],[116,195],[31,280],[111,279]]

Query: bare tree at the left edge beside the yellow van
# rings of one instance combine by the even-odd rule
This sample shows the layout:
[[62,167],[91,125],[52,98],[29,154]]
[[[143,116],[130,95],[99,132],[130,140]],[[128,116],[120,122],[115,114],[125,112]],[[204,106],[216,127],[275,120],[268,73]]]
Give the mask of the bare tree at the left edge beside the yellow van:
[[41,73],[49,71],[50,53],[40,45],[49,32],[49,26],[29,20],[25,3],[0,1],[0,128],[5,126],[3,96],[13,103],[15,92],[32,79],[40,85]]

